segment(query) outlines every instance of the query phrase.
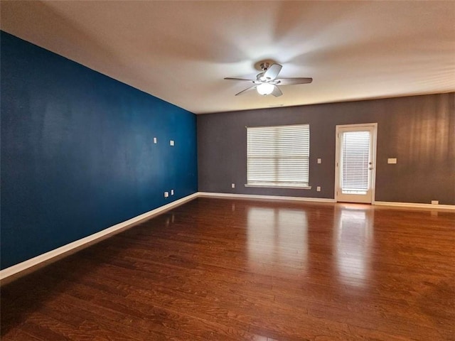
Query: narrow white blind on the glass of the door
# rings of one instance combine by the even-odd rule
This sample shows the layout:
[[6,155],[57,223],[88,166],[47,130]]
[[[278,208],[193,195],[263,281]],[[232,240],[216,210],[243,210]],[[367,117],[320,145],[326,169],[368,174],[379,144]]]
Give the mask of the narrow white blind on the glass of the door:
[[370,132],[347,131],[343,133],[342,193],[367,193],[369,161]]

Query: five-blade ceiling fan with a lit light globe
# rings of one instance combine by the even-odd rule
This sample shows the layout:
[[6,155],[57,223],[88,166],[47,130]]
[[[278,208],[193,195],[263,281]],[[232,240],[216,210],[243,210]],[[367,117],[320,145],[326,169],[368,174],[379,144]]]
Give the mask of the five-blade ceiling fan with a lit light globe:
[[277,63],[268,63],[264,62],[260,64],[262,72],[257,74],[255,80],[247,80],[245,78],[231,78],[226,77],[225,80],[240,80],[241,82],[252,82],[254,85],[247,87],[247,89],[242,90],[235,94],[244,94],[248,90],[256,89],[259,94],[267,96],[267,94],[273,94],[274,97],[281,96],[282,90],[279,90],[278,85],[297,85],[297,84],[308,84],[313,82],[313,78],[303,78],[303,77],[282,77],[277,78],[279,72],[282,70],[282,65]]

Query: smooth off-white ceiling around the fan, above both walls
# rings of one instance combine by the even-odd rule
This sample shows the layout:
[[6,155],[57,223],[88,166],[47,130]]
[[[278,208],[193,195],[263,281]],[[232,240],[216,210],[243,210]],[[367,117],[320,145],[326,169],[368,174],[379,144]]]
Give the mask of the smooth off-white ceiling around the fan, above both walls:
[[[455,91],[455,1],[1,1],[1,29],[196,114]],[[314,81],[235,97],[264,59]]]

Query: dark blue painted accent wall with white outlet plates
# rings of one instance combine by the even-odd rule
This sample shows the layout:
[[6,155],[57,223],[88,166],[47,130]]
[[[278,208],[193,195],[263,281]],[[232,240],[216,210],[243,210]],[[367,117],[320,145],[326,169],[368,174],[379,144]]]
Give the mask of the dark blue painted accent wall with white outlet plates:
[[1,32],[1,269],[195,193],[197,177],[194,114]]

